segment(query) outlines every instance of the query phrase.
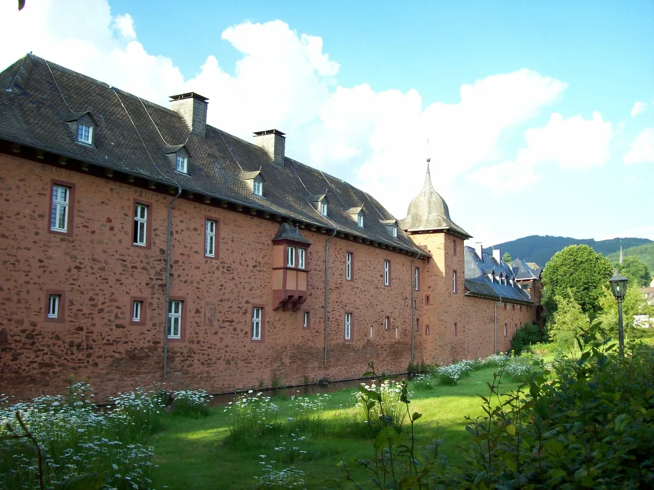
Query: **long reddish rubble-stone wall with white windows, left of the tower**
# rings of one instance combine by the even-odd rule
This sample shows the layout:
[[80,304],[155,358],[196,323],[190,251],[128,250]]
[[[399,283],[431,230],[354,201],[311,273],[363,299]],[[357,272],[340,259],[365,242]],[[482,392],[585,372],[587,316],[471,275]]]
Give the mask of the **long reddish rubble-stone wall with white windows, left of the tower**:
[[[75,184],[72,236],[48,233],[50,179]],[[0,330],[7,332],[7,340],[0,338],[0,391],[53,393],[71,374],[88,377],[100,397],[164,381],[171,196],[0,154],[0,199]],[[147,250],[131,245],[134,199],[152,203]],[[203,257],[205,215],[220,219],[219,260]],[[302,231],[313,242],[303,304],[311,312],[311,328],[303,330],[303,309],[272,310],[271,238],[278,226],[220,207],[175,203],[171,296],[184,299],[186,322],[184,340],[169,342],[169,389],[189,383],[219,392],[276,381],[348,379],[360,376],[370,361],[380,372],[405,371],[411,349],[411,259],[339,237],[330,241],[324,368],[326,236]],[[345,281],[346,250],[354,252],[354,281]],[[390,287],[383,285],[384,259],[392,261]],[[46,290],[52,289],[65,290],[65,323],[44,321]],[[129,324],[130,296],[147,298],[145,326]],[[265,307],[260,343],[250,341],[252,304]],[[421,296],[417,306],[422,311]],[[353,313],[351,342],[343,340],[345,311]],[[386,332],[385,315],[392,318]]]

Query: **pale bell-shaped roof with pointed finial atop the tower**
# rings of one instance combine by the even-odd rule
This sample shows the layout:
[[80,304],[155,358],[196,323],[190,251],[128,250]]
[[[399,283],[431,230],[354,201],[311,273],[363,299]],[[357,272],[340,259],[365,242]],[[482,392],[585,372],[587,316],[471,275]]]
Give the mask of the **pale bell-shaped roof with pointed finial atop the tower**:
[[444,230],[463,239],[472,237],[450,218],[447,203],[432,185],[429,164],[422,190],[409,204],[407,215],[400,220],[400,226],[407,232]]

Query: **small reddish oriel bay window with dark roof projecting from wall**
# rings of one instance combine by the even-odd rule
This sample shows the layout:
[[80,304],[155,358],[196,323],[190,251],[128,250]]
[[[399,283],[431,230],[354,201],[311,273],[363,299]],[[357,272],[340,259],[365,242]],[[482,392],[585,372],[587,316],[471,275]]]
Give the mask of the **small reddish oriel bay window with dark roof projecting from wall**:
[[307,250],[311,242],[282,223],[273,237],[273,309],[298,311],[307,300]]

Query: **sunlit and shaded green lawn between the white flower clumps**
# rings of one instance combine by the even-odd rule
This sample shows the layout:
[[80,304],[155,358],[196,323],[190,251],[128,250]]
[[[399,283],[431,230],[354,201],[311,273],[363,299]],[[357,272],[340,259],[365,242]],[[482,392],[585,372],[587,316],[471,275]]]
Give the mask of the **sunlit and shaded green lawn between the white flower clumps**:
[[[416,423],[417,436],[425,444],[435,438],[445,438],[442,451],[449,459],[456,460],[456,446],[467,438],[464,417],[481,415],[481,398],[477,394],[489,393],[486,383],[492,381],[496,370],[489,368],[472,372],[453,387],[438,386],[430,391],[414,391],[411,411],[422,413],[422,418]],[[503,383],[501,391],[512,391],[515,387],[515,383]],[[350,388],[330,394],[329,410],[325,413],[328,423],[334,423],[334,427],[337,427],[338,423],[343,423],[343,415],[353,412],[353,408],[345,412],[336,408],[339,405],[351,407],[354,391],[354,388]],[[280,417],[285,421],[290,400],[276,398],[273,401],[280,406]],[[154,463],[158,464],[154,471],[154,488],[254,488],[254,476],[262,474],[260,461],[264,460],[260,455],[266,455],[266,461],[275,461],[277,453],[274,447],[278,443],[268,438],[249,447],[233,447],[226,444],[229,427],[230,412],[224,413],[223,407],[211,408],[209,415],[203,419],[168,419],[163,432],[156,434],[150,442],[156,454]],[[359,431],[351,430],[351,425],[349,427],[350,430],[332,431],[336,435],[303,434],[306,440],[299,446],[307,453],[293,466],[305,473],[305,488],[320,488],[328,478],[341,478],[343,472],[336,467],[341,454],[346,462],[351,457],[372,456],[370,440],[364,435],[365,427]],[[280,464],[279,468],[288,466]],[[358,468],[354,468],[354,474],[360,476],[360,480],[366,478],[366,474]]]

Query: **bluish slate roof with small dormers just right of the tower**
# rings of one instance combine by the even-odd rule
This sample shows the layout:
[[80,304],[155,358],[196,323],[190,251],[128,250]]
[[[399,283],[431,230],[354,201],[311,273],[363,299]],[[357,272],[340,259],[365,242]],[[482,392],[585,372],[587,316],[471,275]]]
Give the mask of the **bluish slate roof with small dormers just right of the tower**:
[[[509,283],[509,279],[515,279],[515,275],[504,260],[500,260],[498,264],[491,254],[484,252],[482,256],[483,258],[479,258],[473,247],[464,247],[466,296],[476,296],[496,301],[501,299],[509,303],[536,304],[529,294],[519,287],[515,280],[513,285]],[[507,278],[506,285],[490,281],[486,275],[487,273],[494,273],[496,276],[503,275]]]

